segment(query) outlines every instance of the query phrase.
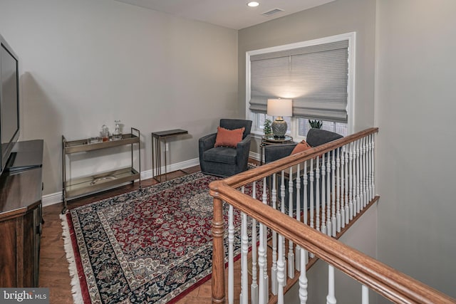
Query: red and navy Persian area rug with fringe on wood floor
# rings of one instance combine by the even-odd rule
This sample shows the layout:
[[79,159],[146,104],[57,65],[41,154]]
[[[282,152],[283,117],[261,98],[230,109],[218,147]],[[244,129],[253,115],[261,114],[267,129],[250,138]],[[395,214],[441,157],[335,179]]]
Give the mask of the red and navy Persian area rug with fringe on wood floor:
[[[197,172],[62,215],[75,303],[175,303],[209,280],[216,179]],[[234,223],[239,256],[239,211]]]

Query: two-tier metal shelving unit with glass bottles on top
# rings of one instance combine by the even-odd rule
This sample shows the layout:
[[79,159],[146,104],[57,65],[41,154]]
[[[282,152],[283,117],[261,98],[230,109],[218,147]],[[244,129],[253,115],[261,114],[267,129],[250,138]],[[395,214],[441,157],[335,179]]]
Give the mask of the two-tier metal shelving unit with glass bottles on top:
[[[138,144],[138,169],[133,167],[133,145]],[[127,168],[115,169],[109,172],[96,173],[88,177],[80,177],[75,179],[67,179],[66,174],[66,155],[78,152],[90,152],[100,149],[108,149],[111,147],[119,147],[122,145],[131,146],[131,165]],[[83,196],[84,194],[90,194],[93,192],[99,192],[103,189],[115,187],[116,185],[123,184],[125,182],[135,182],[139,179],[141,187],[141,156],[140,156],[140,131],[131,128],[130,134],[122,135],[122,139],[113,140],[109,138],[107,142],[95,142],[89,143],[88,140],[73,140],[67,141],[62,135],[62,200],[63,210],[62,214],[66,212],[68,206],[68,199],[72,199],[76,196]]]

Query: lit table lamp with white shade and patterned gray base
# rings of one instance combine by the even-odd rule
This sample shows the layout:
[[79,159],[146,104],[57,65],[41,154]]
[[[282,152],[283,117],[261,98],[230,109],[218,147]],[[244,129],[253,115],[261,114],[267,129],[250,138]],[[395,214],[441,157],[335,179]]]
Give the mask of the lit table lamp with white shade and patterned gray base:
[[267,115],[276,116],[272,122],[272,132],[276,138],[284,138],[288,126],[283,116],[291,116],[293,101],[291,99],[268,99]]

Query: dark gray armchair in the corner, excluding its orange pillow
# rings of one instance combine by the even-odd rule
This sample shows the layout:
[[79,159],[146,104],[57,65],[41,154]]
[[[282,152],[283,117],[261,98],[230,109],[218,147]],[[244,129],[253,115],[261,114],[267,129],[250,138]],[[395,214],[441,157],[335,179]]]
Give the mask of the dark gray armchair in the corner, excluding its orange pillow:
[[236,148],[214,147],[217,133],[199,138],[199,165],[204,174],[229,177],[247,170],[252,120],[221,119],[220,127],[234,130],[244,127],[242,141]]

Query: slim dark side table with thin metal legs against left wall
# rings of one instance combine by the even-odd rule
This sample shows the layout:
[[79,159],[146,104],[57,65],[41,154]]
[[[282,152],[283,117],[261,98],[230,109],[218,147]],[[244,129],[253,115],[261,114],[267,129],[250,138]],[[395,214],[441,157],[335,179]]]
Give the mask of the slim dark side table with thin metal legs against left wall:
[[[165,145],[165,180],[167,180],[167,169],[166,169],[166,139],[168,137],[174,137],[177,135],[188,134],[187,130],[175,129],[175,130],[165,130],[160,132],[152,132],[152,174],[153,178],[160,176],[160,181],[162,182],[162,146],[160,142],[163,140]],[[155,147],[155,153],[154,153]],[[154,167],[155,164],[155,167]],[[158,180],[158,179],[157,179]]]

